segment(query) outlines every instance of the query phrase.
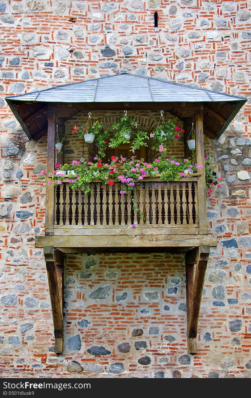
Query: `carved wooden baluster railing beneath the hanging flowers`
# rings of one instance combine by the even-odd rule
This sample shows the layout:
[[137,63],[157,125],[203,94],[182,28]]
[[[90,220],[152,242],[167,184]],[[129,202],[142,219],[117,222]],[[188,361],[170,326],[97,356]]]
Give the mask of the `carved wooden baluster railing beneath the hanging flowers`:
[[[180,181],[144,178],[127,195],[121,194],[121,183],[90,184],[91,192],[70,188],[67,179],[54,191],[54,228],[86,228],[91,226],[194,226],[198,222],[199,174]],[[198,233],[198,232],[197,232]]]

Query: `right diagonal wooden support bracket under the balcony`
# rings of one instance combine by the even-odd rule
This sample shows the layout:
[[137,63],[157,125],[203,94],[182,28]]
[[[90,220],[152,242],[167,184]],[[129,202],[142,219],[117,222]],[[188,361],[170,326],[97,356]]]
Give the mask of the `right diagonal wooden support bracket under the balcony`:
[[[209,251],[210,247],[208,245],[200,245],[186,252],[186,306],[189,353],[196,353],[197,351],[197,327]],[[196,264],[195,277],[194,264]]]

